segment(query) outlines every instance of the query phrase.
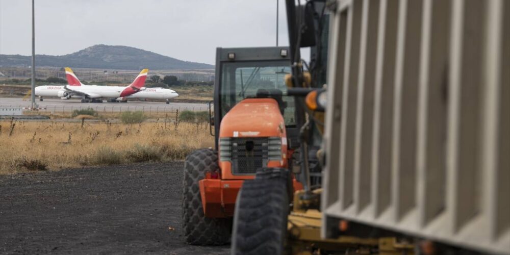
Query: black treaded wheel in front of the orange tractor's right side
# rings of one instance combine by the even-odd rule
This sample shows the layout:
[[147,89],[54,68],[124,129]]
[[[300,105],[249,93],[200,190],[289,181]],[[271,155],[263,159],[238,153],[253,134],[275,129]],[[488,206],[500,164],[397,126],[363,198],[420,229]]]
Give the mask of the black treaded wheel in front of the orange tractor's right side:
[[232,254],[283,254],[289,214],[288,171],[263,168],[237,195]]

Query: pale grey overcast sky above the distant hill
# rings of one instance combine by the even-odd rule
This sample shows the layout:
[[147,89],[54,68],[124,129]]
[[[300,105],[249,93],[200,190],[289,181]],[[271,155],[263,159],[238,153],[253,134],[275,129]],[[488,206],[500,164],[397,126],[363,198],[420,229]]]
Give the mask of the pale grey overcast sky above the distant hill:
[[[288,45],[279,0],[279,44]],[[31,55],[30,0],[0,0],[0,54]],[[35,0],[36,54],[125,45],[214,64],[216,47],[274,46],[276,0]]]

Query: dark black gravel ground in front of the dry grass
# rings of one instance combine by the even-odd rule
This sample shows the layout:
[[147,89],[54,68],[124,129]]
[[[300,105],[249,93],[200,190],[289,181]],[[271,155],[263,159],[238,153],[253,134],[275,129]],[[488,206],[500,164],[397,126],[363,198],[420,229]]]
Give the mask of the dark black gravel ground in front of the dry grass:
[[192,246],[183,163],[0,175],[0,254],[228,254]]

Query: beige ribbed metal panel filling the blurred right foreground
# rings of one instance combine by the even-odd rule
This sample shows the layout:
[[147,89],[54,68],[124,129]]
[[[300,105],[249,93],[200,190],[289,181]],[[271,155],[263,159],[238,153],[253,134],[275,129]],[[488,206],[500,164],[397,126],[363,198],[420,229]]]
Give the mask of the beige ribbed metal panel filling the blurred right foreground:
[[330,22],[324,237],[510,253],[510,2],[339,0]]

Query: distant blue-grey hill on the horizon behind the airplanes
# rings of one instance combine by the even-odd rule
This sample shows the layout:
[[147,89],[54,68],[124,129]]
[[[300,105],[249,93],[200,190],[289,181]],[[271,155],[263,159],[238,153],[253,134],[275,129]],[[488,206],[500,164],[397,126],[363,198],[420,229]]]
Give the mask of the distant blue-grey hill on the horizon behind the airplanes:
[[[28,65],[31,65],[31,56],[0,55],[0,66]],[[138,70],[142,67],[153,70],[214,68],[213,65],[174,59],[139,48],[104,44],[94,45],[63,56],[36,55],[36,66],[123,70]]]

